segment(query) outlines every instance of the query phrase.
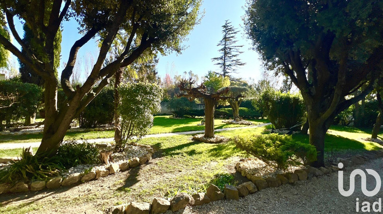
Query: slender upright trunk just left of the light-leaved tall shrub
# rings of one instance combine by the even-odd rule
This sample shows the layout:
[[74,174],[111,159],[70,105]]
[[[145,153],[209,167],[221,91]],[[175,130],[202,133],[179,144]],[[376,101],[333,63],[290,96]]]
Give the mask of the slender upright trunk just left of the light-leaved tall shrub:
[[116,142],[116,150],[121,150],[122,148],[122,133],[121,133],[121,121],[119,119],[119,114],[117,112],[119,105],[119,94],[118,94],[118,86],[122,82],[123,78],[123,69],[118,69],[118,71],[114,74],[115,82],[114,82],[114,141]]

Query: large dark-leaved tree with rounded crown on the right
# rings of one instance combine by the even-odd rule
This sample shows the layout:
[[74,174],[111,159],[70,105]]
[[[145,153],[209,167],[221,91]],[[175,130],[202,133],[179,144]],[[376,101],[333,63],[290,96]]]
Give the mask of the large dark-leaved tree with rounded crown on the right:
[[246,6],[245,31],[265,66],[288,75],[302,94],[309,142],[318,151],[313,166],[324,166],[333,119],[382,75],[382,13],[375,0],[251,0]]

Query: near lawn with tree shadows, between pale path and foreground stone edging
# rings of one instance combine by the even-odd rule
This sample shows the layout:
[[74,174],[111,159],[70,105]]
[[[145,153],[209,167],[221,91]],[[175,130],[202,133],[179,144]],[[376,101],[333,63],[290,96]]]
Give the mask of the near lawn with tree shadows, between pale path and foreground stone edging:
[[[267,127],[236,129],[217,132],[228,138],[234,136],[260,135]],[[340,149],[372,150],[381,148],[376,143],[362,140],[369,137],[369,130],[348,129],[348,127],[333,126],[326,136],[326,148],[338,145]],[[206,190],[210,183],[236,185],[238,178],[232,174],[235,157],[247,157],[248,154],[237,149],[232,141],[225,144],[205,144],[195,142],[190,135],[179,135],[166,138],[147,138],[140,143],[151,145],[158,152],[155,159],[145,167],[131,169],[125,178],[113,181],[112,184],[98,194],[77,197],[57,195],[49,202],[39,201],[34,204],[20,203],[0,207],[0,213],[22,213],[32,210],[60,209],[63,206],[97,204],[95,208],[121,204],[129,201],[151,202],[153,197],[172,197],[178,192],[194,194]],[[382,137],[380,134],[379,137]],[[308,142],[308,137],[294,135],[295,140]],[[19,152],[20,150],[18,150]],[[9,151],[7,154],[10,154]],[[9,155],[12,156],[12,155]],[[123,198],[123,199],[122,199]],[[96,203],[97,202],[97,203]],[[102,207],[101,207],[102,206]],[[49,210],[46,210],[49,212]]]

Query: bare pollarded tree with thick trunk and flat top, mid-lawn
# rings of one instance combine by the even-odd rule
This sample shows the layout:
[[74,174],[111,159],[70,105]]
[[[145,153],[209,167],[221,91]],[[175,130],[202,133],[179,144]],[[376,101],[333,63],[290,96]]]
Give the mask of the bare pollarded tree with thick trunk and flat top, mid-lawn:
[[227,99],[239,99],[242,95],[236,97],[224,96],[229,88],[222,89],[220,92],[207,93],[206,86],[202,83],[201,85],[195,85],[196,81],[192,77],[189,79],[181,79],[177,86],[183,93],[178,94],[178,97],[187,97],[189,101],[193,101],[196,98],[203,98],[205,103],[205,138],[214,138],[214,109],[216,103],[219,100]]

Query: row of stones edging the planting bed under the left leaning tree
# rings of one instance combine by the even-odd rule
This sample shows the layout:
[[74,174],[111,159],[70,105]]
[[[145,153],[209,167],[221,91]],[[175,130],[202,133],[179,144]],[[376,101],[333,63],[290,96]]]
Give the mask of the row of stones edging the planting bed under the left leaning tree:
[[49,180],[38,180],[32,183],[18,182],[14,185],[9,183],[0,184],[0,194],[5,193],[21,193],[28,191],[40,191],[45,188],[47,189],[56,189],[60,186],[71,186],[71,185],[79,185],[84,182],[88,182],[91,180],[97,180],[100,177],[106,177],[108,175],[126,171],[129,168],[137,167],[141,164],[145,164],[146,162],[152,159],[152,155],[154,154],[153,148],[147,145],[134,144],[134,146],[143,147],[148,152],[146,155],[141,157],[134,157],[129,159],[129,161],[123,161],[121,164],[111,163],[109,167],[105,169],[92,169],[88,173],[73,173],[68,175],[67,177],[57,176],[54,178],[50,178]]

